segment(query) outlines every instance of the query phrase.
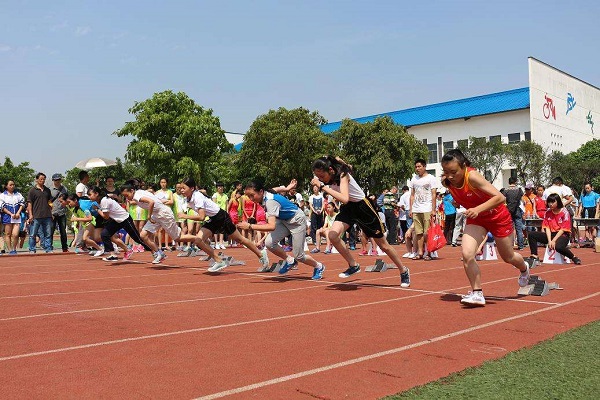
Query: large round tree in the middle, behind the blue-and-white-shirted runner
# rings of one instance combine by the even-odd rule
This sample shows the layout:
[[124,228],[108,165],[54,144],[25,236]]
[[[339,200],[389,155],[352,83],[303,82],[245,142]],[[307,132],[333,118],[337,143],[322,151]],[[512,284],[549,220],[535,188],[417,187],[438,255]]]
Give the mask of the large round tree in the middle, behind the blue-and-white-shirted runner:
[[269,185],[298,179],[303,187],[312,177],[312,162],[332,150],[331,137],[319,128],[327,121],[305,108],[279,108],[260,115],[244,136],[234,157],[240,179],[262,178]]

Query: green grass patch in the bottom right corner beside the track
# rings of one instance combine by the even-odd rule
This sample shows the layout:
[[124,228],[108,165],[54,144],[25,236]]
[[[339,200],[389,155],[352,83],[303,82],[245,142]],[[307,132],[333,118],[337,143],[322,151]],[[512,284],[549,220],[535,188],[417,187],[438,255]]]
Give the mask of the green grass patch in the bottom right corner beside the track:
[[596,321],[386,400],[599,397],[600,321]]

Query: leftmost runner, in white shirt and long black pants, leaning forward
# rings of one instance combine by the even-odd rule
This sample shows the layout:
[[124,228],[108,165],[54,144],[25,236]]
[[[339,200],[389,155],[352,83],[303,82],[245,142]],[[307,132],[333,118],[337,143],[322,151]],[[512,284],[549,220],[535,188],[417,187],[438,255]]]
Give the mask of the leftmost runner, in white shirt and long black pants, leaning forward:
[[[92,198],[92,196],[96,197],[96,194],[93,191],[90,192],[90,198]],[[111,238],[120,229],[124,229],[133,241],[144,246],[146,250],[151,250],[148,245],[144,244],[144,241],[140,237],[140,233],[136,229],[133,219],[127,210],[121,207],[114,199],[108,196],[102,197],[102,200],[100,200],[100,207],[98,208],[98,214],[107,220],[100,236],[102,237],[102,243],[104,243],[104,251],[109,251],[111,254],[108,257],[104,257],[104,261],[118,260]],[[133,248],[129,249],[125,246],[123,250],[125,251],[123,260],[129,260],[133,254]]]

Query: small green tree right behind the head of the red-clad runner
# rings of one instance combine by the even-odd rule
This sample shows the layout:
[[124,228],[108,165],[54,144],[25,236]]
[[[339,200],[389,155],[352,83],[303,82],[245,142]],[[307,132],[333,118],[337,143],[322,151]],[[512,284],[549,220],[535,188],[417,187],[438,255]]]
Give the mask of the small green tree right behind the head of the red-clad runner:
[[493,182],[500,171],[506,157],[506,145],[499,139],[487,140],[485,137],[469,137],[468,146],[459,146],[464,155],[471,161],[487,180]]

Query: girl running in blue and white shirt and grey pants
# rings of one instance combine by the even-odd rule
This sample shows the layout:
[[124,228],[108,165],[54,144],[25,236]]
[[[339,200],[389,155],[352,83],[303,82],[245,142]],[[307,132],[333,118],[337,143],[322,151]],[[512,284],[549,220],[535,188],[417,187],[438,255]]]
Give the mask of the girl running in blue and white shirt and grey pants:
[[[287,188],[278,188],[279,190],[295,186],[292,181]],[[277,189],[275,189],[277,190]],[[323,278],[325,266],[317,262],[314,258],[304,253],[304,243],[306,238],[306,215],[298,206],[286,199],[280,194],[271,193],[265,190],[262,182],[250,182],[246,185],[246,195],[254,204],[262,204],[267,216],[266,224],[257,224],[241,222],[238,227],[253,231],[271,232],[265,240],[265,246],[269,251],[281,259],[285,260],[283,266],[279,269],[280,274],[286,274],[290,269],[300,261],[303,264],[313,267],[312,279]],[[292,251],[294,257],[288,256],[279,246],[279,242],[284,237],[292,236]]]

